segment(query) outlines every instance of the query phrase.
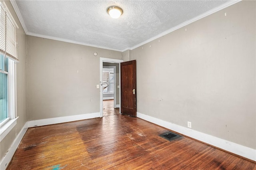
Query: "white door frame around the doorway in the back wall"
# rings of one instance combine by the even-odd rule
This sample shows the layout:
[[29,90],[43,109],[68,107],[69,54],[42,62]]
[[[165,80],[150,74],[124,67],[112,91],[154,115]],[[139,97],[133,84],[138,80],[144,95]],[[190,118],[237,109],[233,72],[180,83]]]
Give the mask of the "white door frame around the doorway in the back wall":
[[[122,59],[112,59],[112,58],[104,58],[100,57],[100,117],[103,117],[103,91],[102,91],[102,74],[103,74],[103,62],[106,63],[119,63],[119,86],[120,86],[120,63],[124,60]],[[121,106],[121,88],[119,88],[119,105]],[[121,109],[119,109],[119,112]]]

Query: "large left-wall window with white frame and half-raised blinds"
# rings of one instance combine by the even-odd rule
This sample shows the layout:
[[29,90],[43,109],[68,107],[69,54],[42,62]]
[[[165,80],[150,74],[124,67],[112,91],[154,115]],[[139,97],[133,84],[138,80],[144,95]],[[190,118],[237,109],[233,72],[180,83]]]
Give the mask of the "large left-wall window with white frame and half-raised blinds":
[[0,2],[0,139],[16,124],[17,28],[10,12]]

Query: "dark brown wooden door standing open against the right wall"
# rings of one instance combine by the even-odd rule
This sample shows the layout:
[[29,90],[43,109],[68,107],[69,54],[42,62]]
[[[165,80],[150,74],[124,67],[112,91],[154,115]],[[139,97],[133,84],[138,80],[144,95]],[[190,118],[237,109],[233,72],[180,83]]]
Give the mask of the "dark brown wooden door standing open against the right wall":
[[121,113],[136,117],[136,60],[121,63]]

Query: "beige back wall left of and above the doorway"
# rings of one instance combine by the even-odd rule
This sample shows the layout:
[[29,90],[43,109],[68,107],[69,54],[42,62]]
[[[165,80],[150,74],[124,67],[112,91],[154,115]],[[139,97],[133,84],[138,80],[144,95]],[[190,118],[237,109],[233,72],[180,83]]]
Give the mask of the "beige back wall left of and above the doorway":
[[121,52],[34,36],[27,44],[29,121],[100,112],[100,57]]

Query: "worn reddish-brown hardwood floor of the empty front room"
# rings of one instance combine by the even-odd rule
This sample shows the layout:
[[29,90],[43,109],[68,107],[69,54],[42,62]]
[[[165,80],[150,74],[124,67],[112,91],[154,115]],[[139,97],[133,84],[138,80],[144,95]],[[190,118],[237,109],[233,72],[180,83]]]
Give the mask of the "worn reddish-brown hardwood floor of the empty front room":
[[29,128],[8,170],[255,170],[256,163],[139,118],[111,115]]

